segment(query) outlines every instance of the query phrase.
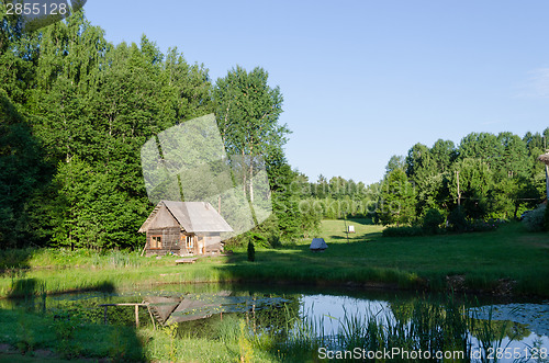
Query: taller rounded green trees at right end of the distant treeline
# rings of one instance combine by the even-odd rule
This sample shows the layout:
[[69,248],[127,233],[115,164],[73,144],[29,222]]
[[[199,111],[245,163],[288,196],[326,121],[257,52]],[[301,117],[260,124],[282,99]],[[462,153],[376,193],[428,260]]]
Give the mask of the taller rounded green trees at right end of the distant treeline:
[[[511,133],[471,133],[457,147],[442,139],[432,148],[416,144],[404,166],[417,190],[416,215],[429,208],[448,214],[460,204],[464,217],[472,220],[517,218],[545,194],[545,170],[537,161],[542,152],[539,133],[523,138]],[[397,166],[399,158],[392,157],[384,182]],[[378,214],[378,218],[386,223],[386,216]]]

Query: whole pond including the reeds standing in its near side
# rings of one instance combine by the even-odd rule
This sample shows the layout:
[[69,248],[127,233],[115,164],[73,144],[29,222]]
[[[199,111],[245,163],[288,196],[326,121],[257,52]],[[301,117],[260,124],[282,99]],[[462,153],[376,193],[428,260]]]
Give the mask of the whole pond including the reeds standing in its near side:
[[301,349],[303,342],[324,349],[321,358],[338,358],[334,354],[354,348],[360,348],[358,354],[400,347],[430,353],[451,348],[467,351],[472,361],[500,358],[501,362],[536,362],[544,361],[549,350],[549,302],[542,300],[184,284],[0,300],[0,308],[26,308],[59,318],[78,315],[97,324],[131,326],[135,325],[131,306],[100,305],[141,303],[149,304],[138,308],[141,326],[177,322],[180,334],[211,338],[219,334],[220,320],[238,316],[254,333],[276,336],[288,349],[296,342]]

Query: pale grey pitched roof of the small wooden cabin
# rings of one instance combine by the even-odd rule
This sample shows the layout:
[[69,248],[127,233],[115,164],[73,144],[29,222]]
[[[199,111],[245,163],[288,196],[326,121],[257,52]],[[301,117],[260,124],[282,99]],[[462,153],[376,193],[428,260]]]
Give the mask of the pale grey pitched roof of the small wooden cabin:
[[145,232],[149,229],[156,214],[163,206],[168,209],[173,219],[188,232],[233,231],[233,228],[208,202],[160,201],[139,228],[139,232]]

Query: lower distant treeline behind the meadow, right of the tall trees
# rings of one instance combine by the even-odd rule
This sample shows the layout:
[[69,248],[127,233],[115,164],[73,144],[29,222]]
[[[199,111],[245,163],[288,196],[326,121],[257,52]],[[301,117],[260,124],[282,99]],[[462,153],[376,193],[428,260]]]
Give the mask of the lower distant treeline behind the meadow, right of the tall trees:
[[[459,145],[421,143],[388,161],[383,179],[370,185],[341,177],[300,175],[303,209],[326,218],[368,216],[384,225],[410,224],[428,209],[448,216],[458,205],[470,219],[515,219],[546,198],[549,127],[523,137],[470,133]],[[459,183],[459,184],[458,184]]]

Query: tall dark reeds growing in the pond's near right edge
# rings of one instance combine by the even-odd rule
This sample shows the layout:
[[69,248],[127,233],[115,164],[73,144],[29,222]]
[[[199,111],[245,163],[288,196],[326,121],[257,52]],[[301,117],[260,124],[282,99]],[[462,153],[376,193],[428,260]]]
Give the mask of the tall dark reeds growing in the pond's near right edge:
[[[303,317],[292,328],[289,339],[278,341],[277,351],[288,361],[304,356],[320,356],[320,348],[332,351],[382,352],[399,349],[401,354],[393,355],[391,362],[419,362],[425,356],[430,361],[437,352],[452,353],[452,361],[473,362],[472,349],[482,352],[481,362],[489,362],[489,349],[498,348],[505,329],[495,329],[491,320],[472,318],[468,308],[449,299],[445,304],[418,300],[410,316],[394,316],[388,311],[366,311],[363,315],[348,315],[339,320],[339,330],[335,336],[325,337],[318,327],[322,318],[312,320]],[[277,340],[276,336],[271,339]],[[424,352],[415,359],[405,352]],[[362,361],[376,361],[362,354]],[[354,361],[355,358],[343,359]]]

